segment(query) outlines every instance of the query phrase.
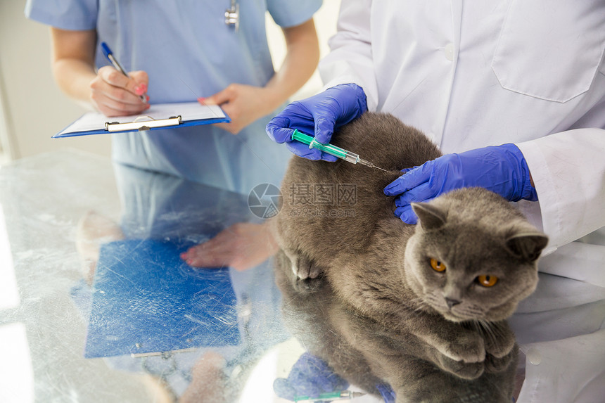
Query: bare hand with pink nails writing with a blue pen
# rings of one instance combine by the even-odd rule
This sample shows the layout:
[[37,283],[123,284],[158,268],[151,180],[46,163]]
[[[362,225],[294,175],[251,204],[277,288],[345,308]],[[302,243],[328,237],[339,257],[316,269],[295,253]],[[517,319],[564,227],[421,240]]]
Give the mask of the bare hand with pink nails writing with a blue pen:
[[106,116],[136,115],[149,108],[148,77],[144,71],[127,73],[104,42],[103,53],[113,66],[98,69],[91,82],[91,100]]

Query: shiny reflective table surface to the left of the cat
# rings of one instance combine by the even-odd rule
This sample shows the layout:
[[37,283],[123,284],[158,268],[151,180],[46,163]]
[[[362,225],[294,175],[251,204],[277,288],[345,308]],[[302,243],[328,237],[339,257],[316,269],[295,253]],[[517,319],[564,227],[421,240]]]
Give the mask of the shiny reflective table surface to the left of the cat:
[[0,189],[1,402],[285,402],[303,347],[272,262],[181,255],[263,224],[248,195],[70,151],[2,167]]

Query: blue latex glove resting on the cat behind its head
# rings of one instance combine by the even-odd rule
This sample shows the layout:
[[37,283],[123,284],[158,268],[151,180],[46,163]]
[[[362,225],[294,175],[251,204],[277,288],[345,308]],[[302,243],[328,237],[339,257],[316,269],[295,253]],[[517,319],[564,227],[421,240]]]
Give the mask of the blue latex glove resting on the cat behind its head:
[[537,200],[530,171],[523,154],[514,144],[490,146],[446,154],[419,167],[404,169],[401,177],[384,188],[395,199],[395,215],[416,224],[412,202],[424,202],[457,188],[480,186],[510,201]]

